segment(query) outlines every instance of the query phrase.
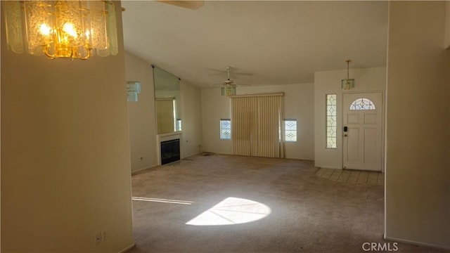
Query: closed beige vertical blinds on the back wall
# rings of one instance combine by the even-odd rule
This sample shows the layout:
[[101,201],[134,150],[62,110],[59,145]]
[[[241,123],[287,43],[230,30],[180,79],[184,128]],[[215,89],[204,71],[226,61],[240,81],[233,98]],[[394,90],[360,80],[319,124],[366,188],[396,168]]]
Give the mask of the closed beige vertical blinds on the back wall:
[[283,93],[231,97],[234,155],[283,157]]

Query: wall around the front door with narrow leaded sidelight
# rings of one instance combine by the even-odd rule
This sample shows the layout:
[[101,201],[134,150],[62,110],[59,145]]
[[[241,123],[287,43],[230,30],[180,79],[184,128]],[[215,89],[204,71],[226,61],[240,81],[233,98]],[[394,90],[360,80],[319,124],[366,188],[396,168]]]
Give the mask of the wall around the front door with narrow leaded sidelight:
[[[346,77],[347,70],[314,73],[314,162],[316,167],[342,169],[343,94],[345,92],[385,92],[386,89],[386,67],[349,70],[349,77],[355,79],[355,88],[349,91],[341,89],[341,80]],[[326,94],[336,94],[337,98],[337,148],[326,148]]]

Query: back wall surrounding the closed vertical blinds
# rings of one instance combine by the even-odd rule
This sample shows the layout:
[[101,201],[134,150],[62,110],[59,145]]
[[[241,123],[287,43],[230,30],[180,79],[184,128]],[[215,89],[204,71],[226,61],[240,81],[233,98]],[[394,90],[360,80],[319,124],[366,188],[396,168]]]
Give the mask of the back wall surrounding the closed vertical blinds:
[[[284,92],[284,118],[297,119],[297,142],[285,143],[285,157],[314,160],[314,84],[238,86],[236,92]],[[203,151],[231,154],[231,140],[220,139],[220,119],[231,118],[230,98],[221,96],[220,88],[202,89],[202,115]]]

